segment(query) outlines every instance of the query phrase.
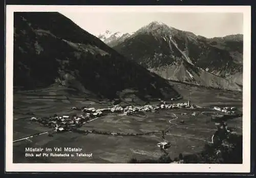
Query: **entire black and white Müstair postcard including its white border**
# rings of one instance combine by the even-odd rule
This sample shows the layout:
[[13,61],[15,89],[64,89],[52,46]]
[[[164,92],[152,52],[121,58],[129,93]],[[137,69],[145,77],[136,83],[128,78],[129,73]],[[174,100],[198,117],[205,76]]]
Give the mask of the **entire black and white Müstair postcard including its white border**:
[[250,23],[250,6],[7,6],[9,169],[248,172]]

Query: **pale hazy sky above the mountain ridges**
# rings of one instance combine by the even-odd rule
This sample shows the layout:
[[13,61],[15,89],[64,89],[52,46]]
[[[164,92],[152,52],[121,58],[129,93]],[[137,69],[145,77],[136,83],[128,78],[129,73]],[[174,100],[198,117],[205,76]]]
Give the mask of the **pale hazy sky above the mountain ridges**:
[[242,13],[175,12],[60,12],[78,26],[97,36],[112,32],[132,33],[154,20],[205,37],[243,34]]

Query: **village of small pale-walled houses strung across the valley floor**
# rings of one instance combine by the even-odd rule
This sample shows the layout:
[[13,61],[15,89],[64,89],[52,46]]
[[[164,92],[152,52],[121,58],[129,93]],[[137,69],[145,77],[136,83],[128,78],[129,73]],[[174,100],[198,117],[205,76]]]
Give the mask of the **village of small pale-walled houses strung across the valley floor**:
[[[163,110],[175,110],[175,109],[189,109],[193,110],[196,108],[200,108],[195,104],[191,104],[190,100],[184,103],[172,103],[168,104],[165,101],[159,99],[159,103],[156,105],[144,105],[144,106],[120,106],[120,105],[113,105],[112,107],[108,108],[94,108],[94,107],[72,107],[72,110],[80,110],[83,112],[82,115],[72,115],[72,116],[57,116],[56,114],[53,117],[44,117],[44,118],[36,118],[32,117],[32,121],[36,121],[44,126],[54,128],[56,132],[68,131],[73,127],[81,127],[83,124],[87,124],[99,117],[110,115],[110,114],[121,114],[121,115],[134,115],[134,116],[144,116],[148,112],[152,113],[159,113]],[[215,110],[218,112],[223,112],[226,114],[236,114],[235,107],[214,107]],[[230,111],[231,110],[231,111]],[[202,112],[204,113],[204,112]],[[186,113],[182,113],[181,115],[187,115]],[[196,116],[197,113],[194,112],[191,116]],[[217,117],[218,119],[222,118],[224,115],[212,115],[212,118]],[[182,122],[182,121],[181,121]]]

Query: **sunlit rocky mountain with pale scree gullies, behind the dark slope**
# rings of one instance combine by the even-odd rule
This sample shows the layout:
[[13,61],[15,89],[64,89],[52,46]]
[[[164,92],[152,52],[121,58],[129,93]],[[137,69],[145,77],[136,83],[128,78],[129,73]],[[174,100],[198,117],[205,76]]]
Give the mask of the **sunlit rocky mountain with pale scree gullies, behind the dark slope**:
[[207,39],[153,21],[113,48],[166,79],[241,89],[242,35]]

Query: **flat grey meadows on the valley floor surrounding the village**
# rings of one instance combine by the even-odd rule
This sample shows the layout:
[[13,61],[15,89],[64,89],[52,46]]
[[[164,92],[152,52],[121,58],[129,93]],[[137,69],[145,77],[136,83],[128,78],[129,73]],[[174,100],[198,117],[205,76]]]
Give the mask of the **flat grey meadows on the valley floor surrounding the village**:
[[[197,110],[166,110],[160,113],[147,113],[144,117],[107,115],[95,119],[79,130],[100,130],[122,133],[145,133],[157,132],[141,136],[112,136],[95,133],[83,134],[77,132],[56,133],[53,137],[42,134],[33,138],[13,143],[14,163],[127,163],[131,158],[157,159],[163,153],[156,146],[162,142],[162,130],[170,128],[166,133],[165,140],[170,142],[171,147],[166,151],[170,158],[178,157],[179,153],[196,153],[203,149],[205,143],[211,141],[212,133],[216,126],[210,121],[210,116],[202,112],[214,112],[207,107],[226,105],[236,106],[242,110],[242,94],[214,89],[206,89],[189,86],[182,83],[172,83],[177,91],[191,103],[206,107]],[[107,101],[88,99],[90,95],[76,96],[66,90],[27,91],[14,94],[14,120],[13,140],[31,136],[38,132],[49,131],[49,128],[31,122],[29,118],[48,117],[54,114],[81,114],[70,110],[70,107],[106,107]],[[92,98],[92,97],[91,97]],[[196,112],[196,116],[191,116]],[[181,123],[180,121],[184,121]],[[242,118],[227,121],[228,126],[242,134]],[[82,148],[81,153],[92,153],[92,157],[25,157],[26,147],[76,147]],[[54,150],[53,150],[54,151]],[[62,150],[63,152],[63,150]]]

